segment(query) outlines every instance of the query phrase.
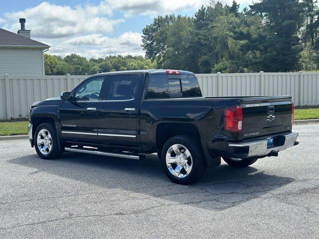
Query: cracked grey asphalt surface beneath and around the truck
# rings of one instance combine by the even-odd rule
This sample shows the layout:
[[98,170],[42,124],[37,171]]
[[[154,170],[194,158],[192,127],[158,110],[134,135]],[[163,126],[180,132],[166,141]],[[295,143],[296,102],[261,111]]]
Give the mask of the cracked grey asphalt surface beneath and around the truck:
[[0,141],[0,238],[318,238],[319,124],[247,168],[222,162],[196,184],[145,160],[64,153],[40,159]]

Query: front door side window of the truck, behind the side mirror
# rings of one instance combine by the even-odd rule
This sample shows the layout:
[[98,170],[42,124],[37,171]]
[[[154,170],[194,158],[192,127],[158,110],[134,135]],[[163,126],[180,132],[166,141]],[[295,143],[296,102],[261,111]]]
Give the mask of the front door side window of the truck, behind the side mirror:
[[75,101],[97,101],[100,98],[104,77],[92,78],[75,90]]

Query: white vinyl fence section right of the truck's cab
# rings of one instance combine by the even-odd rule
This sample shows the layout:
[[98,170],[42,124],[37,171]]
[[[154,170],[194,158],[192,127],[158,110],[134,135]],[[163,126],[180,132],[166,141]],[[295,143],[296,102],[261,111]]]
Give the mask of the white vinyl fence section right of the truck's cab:
[[319,105],[319,72],[196,76],[205,97],[290,95],[296,106]]

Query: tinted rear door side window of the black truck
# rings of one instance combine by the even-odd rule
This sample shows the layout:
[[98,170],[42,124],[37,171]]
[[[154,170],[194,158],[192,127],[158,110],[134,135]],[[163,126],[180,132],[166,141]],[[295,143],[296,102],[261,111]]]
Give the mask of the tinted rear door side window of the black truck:
[[109,84],[107,100],[131,100],[135,98],[138,87],[138,75],[112,76]]

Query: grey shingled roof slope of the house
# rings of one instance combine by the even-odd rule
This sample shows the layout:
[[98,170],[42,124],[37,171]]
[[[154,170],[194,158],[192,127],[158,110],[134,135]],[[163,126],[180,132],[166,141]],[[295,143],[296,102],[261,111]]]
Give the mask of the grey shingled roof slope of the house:
[[47,44],[43,44],[41,42],[32,40],[30,38],[20,36],[18,34],[15,34],[13,32],[4,30],[0,28],[0,46],[32,46],[32,47],[43,47],[48,48],[50,47]]

